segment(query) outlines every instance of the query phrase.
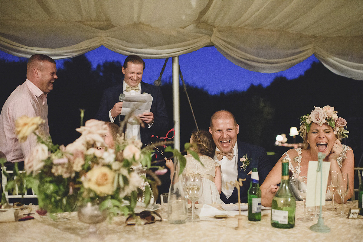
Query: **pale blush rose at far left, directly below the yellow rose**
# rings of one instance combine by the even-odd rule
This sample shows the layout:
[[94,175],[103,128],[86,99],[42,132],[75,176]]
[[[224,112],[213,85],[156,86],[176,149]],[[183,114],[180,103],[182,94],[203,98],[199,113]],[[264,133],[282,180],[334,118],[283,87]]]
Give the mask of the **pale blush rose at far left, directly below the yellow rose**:
[[48,158],[48,147],[44,144],[38,144],[24,160],[24,169],[26,172],[33,172],[35,175],[44,166],[43,160]]

